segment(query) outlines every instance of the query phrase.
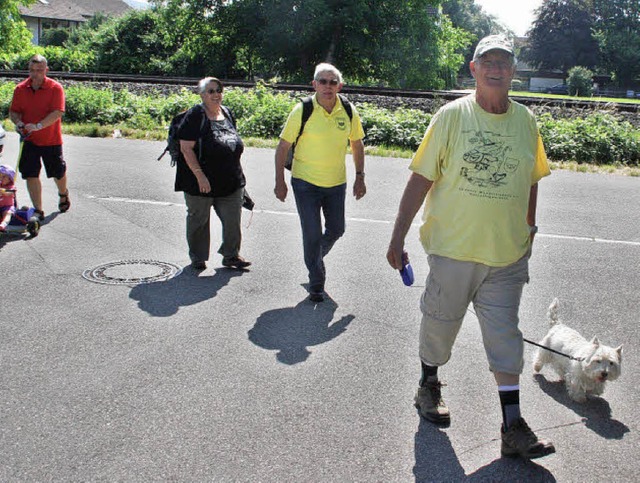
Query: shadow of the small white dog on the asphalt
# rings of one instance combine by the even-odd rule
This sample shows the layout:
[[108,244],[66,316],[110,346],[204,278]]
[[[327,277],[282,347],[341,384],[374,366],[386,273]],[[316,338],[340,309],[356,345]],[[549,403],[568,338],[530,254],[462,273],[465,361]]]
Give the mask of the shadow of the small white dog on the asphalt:
[[629,427],[611,417],[611,406],[606,399],[589,396],[587,402],[578,403],[569,397],[565,383],[549,381],[542,374],[534,374],[534,379],[545,393],[563,406],[582,416],[587,428],[606,439],[622,439]]

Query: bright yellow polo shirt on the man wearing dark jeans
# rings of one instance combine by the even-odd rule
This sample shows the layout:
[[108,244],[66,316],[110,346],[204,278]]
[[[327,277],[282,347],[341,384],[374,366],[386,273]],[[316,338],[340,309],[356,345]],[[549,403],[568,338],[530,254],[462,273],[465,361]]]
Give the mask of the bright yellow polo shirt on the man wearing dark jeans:
[[[313,112],[298,139],[291,176],[322,188],[331,188],[347,182],[345,156],[347,141],[364,138],[360,116],[352,104],[353,118],[344,110],[338,97],[329,114],[313,95]],[[302,103],[296,104],[280,133],[280,138],[296,142],[302,122]]]

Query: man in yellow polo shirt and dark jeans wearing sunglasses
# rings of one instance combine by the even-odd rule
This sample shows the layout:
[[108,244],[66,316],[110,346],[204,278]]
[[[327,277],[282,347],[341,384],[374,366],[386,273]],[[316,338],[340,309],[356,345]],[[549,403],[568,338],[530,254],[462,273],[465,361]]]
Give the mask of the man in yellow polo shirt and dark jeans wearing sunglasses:
[[[313,76],[313,111],[298,137],[302,124],[302,103],[298,103],[280,133],[276,148],[276,198],[283,201],[288,188],[284,179],[287,154],[295,143],[291,187],[302,226],[304,262],[309,271],[309,299],[324,300],[324,257],[345,230],[347,172],[345,156],[351,144],[356,180],[353,195],[357,200],[366,192],[364,182],[364,131],[360,116],[352,105],[352,117],[342,105],[338,92],[342,74],[331,64],[316,67]],[[322,227],[324,215],[324,232]]]

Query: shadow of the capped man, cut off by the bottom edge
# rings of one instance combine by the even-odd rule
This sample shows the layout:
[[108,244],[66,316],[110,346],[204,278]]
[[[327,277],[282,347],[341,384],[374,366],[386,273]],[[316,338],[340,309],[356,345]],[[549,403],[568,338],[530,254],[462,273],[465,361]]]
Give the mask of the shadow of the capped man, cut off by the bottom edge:
[[[499,447],[499,443],[496,446]],[[413,474],[416,482],[556,481],[551,472],[543,466],[521,458],[498,458],[467,475],[447,433],[422,418],[415,435],[414,451],[416,464]]]

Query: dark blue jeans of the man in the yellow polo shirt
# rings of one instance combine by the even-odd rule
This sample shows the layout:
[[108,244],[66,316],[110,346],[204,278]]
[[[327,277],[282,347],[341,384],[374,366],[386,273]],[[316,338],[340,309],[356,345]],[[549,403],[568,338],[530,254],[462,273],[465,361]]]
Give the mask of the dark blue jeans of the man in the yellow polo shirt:
[[344,234],[347,185],[345,183],[322,188],[298,178],[291,178],[291,186],[302,226],[304,263],[309,270],[309,290],[320,292],[324,290],[326,278],[323,258]]

